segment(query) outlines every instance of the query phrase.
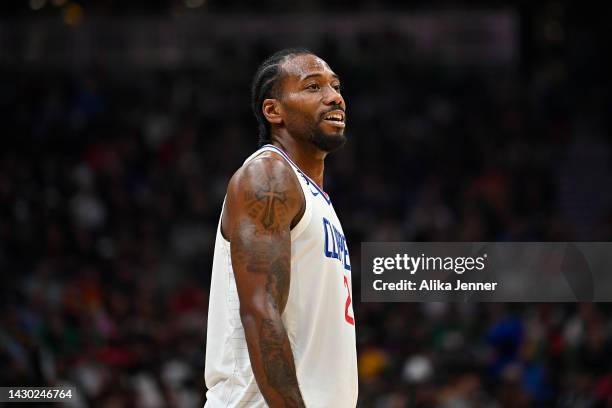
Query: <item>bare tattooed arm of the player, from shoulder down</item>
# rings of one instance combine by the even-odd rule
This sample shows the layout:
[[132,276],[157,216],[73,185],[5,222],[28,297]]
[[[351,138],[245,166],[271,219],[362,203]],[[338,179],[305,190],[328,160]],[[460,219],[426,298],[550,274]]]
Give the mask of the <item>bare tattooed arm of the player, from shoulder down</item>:
[[270,407],[303,407],[281,314],[291,272],[292,221],[303,195],[279,159],[256,158],[230,181],[226,224],[240,317],[255,379]]

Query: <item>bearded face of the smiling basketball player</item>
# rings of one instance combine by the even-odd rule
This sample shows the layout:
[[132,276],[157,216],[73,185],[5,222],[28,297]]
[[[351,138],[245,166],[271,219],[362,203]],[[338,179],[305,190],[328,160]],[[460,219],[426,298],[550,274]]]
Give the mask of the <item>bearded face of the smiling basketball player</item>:
[[333,152],[346,142],[346,105],[340,79],[321,58],[298,55],[285,61],[278,90],[283,124],[289,133]]

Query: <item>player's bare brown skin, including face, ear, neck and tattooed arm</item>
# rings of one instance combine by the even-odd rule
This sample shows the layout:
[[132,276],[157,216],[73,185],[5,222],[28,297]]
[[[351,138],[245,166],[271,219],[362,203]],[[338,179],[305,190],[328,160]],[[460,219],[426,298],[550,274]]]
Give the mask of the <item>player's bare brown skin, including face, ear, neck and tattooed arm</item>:
[[[323,188],[329,151],[321,146],[337,148],[345,141],[344,121],[324,120],[330,112],[344,118],[339,79],[325,61],[311,54],[288,59],[283,72],[280,96],[262,104],[272,142]],[[230,241],[251,367],[273,408],[304,406],[281,320],[291,284],[290,231],[304,210],[302,188],[290,165],[264,152],[230,180],[221,220],[221,232]]]

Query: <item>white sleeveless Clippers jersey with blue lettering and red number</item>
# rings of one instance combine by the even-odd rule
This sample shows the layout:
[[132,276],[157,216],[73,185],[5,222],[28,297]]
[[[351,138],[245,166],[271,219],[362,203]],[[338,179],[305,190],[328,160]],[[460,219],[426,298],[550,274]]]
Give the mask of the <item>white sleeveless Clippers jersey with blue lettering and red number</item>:
[[[300,182],[306,208],[291,230],[291,283],[281,316],[295,360],[306,407],[357,404],[357,352],[352,306],[351,263],[332,203],[280,149]],[[206,407],[266,407],[259,391],[240,321],[230,243],[217,228],[213,259],[205,379]]]

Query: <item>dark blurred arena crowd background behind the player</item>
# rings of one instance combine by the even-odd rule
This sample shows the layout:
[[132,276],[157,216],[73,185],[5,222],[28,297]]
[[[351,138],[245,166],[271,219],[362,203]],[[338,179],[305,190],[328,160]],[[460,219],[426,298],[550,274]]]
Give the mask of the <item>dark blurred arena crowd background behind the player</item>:
[[[215,228],[285,46],[342,77],[327,160],[360,407],[612,406],[609,304],[359,301],[362,241],[610,241],[609,19],[585,2],[0,4],[0,382],[199,407]],[[333,364],[333,362],[330,362]],[[321,379],[325,381],[325,379]]]

